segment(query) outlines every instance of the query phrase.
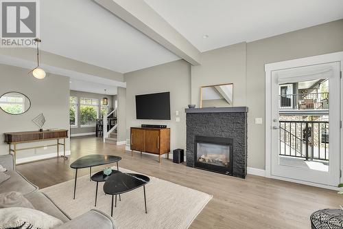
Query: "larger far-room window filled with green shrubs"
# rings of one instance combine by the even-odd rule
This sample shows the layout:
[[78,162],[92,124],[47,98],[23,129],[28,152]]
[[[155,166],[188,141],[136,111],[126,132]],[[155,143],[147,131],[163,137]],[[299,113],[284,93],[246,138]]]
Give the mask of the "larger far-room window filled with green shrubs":
[[80,99],[80,124],[81,127],[92,127],[99,118],[99,100],[96,98]]

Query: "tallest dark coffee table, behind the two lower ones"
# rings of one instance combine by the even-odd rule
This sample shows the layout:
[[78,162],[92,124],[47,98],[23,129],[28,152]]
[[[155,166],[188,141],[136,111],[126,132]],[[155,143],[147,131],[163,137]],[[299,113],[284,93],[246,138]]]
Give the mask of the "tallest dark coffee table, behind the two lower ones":
[[119,170],[118,162],[120,160],[121,157],[114,155],[91,154],[86,155],[84,157],[80,157],[78,160],[75,160],[75,162],[71,163],[70,167],[76,169],[73,199],[75,199],[76,180],[78,179],[79,168],[89,168],[89,179],[91,180],[92,167],[117,162],[117,170]]

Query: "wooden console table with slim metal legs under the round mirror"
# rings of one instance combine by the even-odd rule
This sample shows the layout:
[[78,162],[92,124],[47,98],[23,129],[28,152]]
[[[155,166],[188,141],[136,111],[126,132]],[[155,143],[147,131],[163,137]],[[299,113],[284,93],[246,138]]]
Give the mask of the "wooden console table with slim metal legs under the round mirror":
[[[27,149],[39,149],[44,148],[47,146],[57,146],[57,157],[60,157],[60,146],[63,146],[63,155],[65,160],[68,159],[65,155],[65,140],[68,138],[68,131],[66,129],[58,129],[58,130],[51,130],[51,131],[23,131],[23,132],[12,132],[12,133],[4,133],[5,135],[5,142],[8,143],[9,153],[13,153],[13,160],[14,165],[16,164],[16,152],[23,151]],[[41,142],[41,141],[48,141],[48,140],[56,140],[56,144],[48,144],[44,146],[32,146],[27,148],[17,149],[17,144],[22,143],[32,143],[32,142]],[[60,142],[63,140],[63,143]],[[12,147],[13,146],[13,147]]]

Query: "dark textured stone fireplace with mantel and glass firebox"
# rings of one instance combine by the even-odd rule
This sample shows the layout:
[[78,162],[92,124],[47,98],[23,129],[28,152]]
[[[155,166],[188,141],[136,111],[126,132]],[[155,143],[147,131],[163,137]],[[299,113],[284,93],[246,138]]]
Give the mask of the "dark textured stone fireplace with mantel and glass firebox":
[[248,107],[186,109],[187,166],[246,177]]

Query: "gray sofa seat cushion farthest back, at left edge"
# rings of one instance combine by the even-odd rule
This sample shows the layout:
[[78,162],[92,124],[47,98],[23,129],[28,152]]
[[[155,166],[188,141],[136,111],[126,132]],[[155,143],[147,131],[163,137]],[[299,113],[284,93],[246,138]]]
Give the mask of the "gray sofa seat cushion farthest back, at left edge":
[[31,184],[16,171],[7,171],[5,173],[10,175],[11,178],[0,184],[0,193],[16,191],[25,195],[37,190],[36,186]]

